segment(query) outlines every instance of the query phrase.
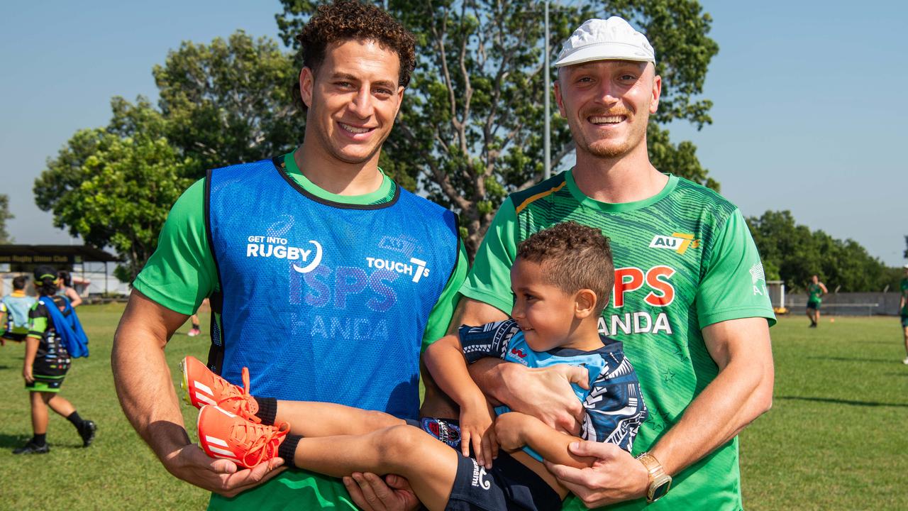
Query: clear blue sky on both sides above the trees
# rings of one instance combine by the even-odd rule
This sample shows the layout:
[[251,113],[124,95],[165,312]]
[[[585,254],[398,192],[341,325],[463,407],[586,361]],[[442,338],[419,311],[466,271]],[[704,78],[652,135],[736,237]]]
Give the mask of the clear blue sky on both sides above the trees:
[[[77,129],[107,124],[111,96],[155,98],[151,69],[183,40],[238,28],[276,38],[281,10],[277,0],[81,4],[19,3],[0,16],[0,193],[10,195],[19,243],[69,243],[35,206],[32,185]],[[720,48],[704,91],[714,124],[672,125],[672,138],[697,145],[745,215],[789,209],[902,265],[908,4],[702,5]]]

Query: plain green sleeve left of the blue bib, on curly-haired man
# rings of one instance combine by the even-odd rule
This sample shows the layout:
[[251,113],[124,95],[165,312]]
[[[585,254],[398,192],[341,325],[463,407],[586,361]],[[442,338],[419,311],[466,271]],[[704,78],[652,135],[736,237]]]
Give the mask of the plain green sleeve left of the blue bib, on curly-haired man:
[[158,247],[133,287],[154,302],[186,316],[195,314],[218,286],[205,234],[205,180],[180,195],[164,222]]

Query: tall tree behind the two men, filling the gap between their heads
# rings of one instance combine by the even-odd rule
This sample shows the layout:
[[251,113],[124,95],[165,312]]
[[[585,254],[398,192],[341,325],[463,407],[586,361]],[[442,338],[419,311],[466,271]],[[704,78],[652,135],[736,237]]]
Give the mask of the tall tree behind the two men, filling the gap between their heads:
[[[281,38],[294,36],[314,12],[309,0],[281,0]],[[537,182],[543,172],[541,5],[513,0],[389,0],[379,2],[418,41],[417,71],[385,160],[419,180],[429,197],[459,212],[469,253],[474,254],[492,215],[508,193]],[[663,98],[648,128],[656,167],[717,188],[690,143],[673,145],[659,125],[711,122],[712,105],[696,100],[718,46],[709,39],[712,19],[691,0],[612,0],[558,3],[550,16],[552,61],[560,44],[583,20],[623,15],[650,35]],[[554,104],[554,103],[553,103]],[[554,109],[554,107],[553,107]],[[552,165],[573,150],[565,119],[552,119]]]

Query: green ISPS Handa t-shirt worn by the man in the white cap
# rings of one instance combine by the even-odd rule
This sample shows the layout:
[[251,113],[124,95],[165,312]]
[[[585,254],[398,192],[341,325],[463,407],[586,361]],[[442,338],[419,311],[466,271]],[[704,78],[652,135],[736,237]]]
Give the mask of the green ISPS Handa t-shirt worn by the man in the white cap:
[[[763,266],[744,218],[720,195],[669,176],[657,195],[606,204],[577,188],[571,172],[555,175],[501,205],[460,293],[509,313],[510,266],[529,235],[574,220],[611,241],[616,286],[599,331],[624,343],[637,369],[649,417],[634,451],[653,446],[718,374],[701,329],[765,317],[775,323]],[[613,506],[640,509],[643,499]],[[741,507],[737,438],[677,474],[652,509]],[[566,509],[585,509],[570,496]]]

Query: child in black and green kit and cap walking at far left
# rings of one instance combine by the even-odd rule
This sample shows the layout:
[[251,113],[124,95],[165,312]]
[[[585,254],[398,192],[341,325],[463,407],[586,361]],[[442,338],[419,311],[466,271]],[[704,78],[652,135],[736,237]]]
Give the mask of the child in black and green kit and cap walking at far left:
[[[63,309],[66,298],[57,296],[57,276],[54,268],[35,268],[35,289],[39,296],[51,296],[54,306]],[[71,310],[71,309],[70,309]],[[71,314],[75,314],[72,312]],[[44,454],[47,446],[47,407],[66,417],[82,437],[82,445],[90,446],[94,440],[96,426],[93,421],[83,419],[72,403],[58,393],[63,386],[66,371],[69,370],[70,356],[60,335],[54,327],[54,320],[44,303],[37,302],[28,313],[28,335],[25,337],[25,364],[22,376],[25,388],[30,392],[32,405],[32,429],[34,436],[13,454]]]

